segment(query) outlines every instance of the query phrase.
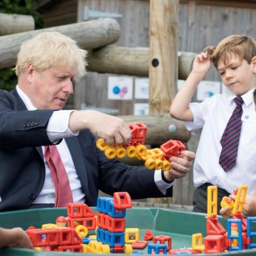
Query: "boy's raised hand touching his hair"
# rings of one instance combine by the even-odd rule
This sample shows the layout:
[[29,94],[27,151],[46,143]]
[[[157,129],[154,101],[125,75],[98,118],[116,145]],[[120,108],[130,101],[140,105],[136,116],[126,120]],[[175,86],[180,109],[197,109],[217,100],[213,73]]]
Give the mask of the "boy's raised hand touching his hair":
[[210,57],[206,54],[206,52],[201,52],[194,59],[192,72],[199,75],[200,79],[203,79],[210,70],[210,67]]

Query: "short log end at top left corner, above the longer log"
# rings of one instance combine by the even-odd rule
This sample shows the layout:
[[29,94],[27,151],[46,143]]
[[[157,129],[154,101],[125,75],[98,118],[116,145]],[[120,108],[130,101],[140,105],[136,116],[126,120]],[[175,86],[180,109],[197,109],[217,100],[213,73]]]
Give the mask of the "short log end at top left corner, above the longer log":
[[22,33],[35,29],[35,21],[30,15],[0,13],[0,35]]

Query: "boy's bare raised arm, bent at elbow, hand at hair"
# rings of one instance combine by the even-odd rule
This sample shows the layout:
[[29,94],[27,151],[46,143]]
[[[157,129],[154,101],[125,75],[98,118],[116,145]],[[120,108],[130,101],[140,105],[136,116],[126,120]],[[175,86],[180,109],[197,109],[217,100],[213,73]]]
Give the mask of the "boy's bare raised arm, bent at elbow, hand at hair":
[[189,103],[191,103],[195,89],[197,89],[200,81],[208,73],[210,67],[210,57],[206,53],[202,52],[195,57],[191,73],[170,106],[170,115],[173,118],[182,121],[193,121],[193,114],[189,108]]

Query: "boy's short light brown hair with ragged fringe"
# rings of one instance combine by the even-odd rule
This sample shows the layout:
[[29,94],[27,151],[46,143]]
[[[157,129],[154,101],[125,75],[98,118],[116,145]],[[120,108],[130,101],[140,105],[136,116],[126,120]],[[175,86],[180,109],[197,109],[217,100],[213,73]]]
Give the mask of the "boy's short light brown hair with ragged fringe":
[[229,62],[230,54],[235,54],[240,59],[246,59],[251,63],[251,59],[256,56],[256,42],[248,35],[231,35],[221,40],[216,47],[209,46],[206,52],[217,67],[219,61],[225,65]]

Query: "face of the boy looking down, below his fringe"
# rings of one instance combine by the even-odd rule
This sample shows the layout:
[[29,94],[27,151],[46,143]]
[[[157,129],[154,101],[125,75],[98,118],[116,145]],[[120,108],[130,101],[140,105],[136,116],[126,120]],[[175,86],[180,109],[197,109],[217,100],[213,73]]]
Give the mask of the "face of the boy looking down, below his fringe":
[[245,59],[240,59],[236,54],[229,54],[227,64],[219,60],[217,71],[221,76],[223,84],[234,95],[243,95],[250,89],[255,88],[256,84],[256,57],[250,64]]

